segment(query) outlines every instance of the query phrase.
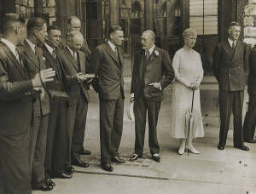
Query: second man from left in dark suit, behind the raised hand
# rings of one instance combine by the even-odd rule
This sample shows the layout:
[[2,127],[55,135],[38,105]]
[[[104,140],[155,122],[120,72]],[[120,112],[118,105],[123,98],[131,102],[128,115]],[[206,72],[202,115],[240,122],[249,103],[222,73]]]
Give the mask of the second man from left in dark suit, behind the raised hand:
[[[43,51],[38,46],[43,45],[47,35],[46,22],[41,18],[32,18],[26,24],[27,39],[20,47],[24,55],[24,65],[29,77],[46,68]],[[44,159],[47,141],[47,129],[49,121],[49,96],[45,88],[41,91],[40,98],[33,102],[33,127],[31,132],[31,164],[32,164],[32,188],[35,190],[49,191],[52,185],[47,184],[44,176]]]

